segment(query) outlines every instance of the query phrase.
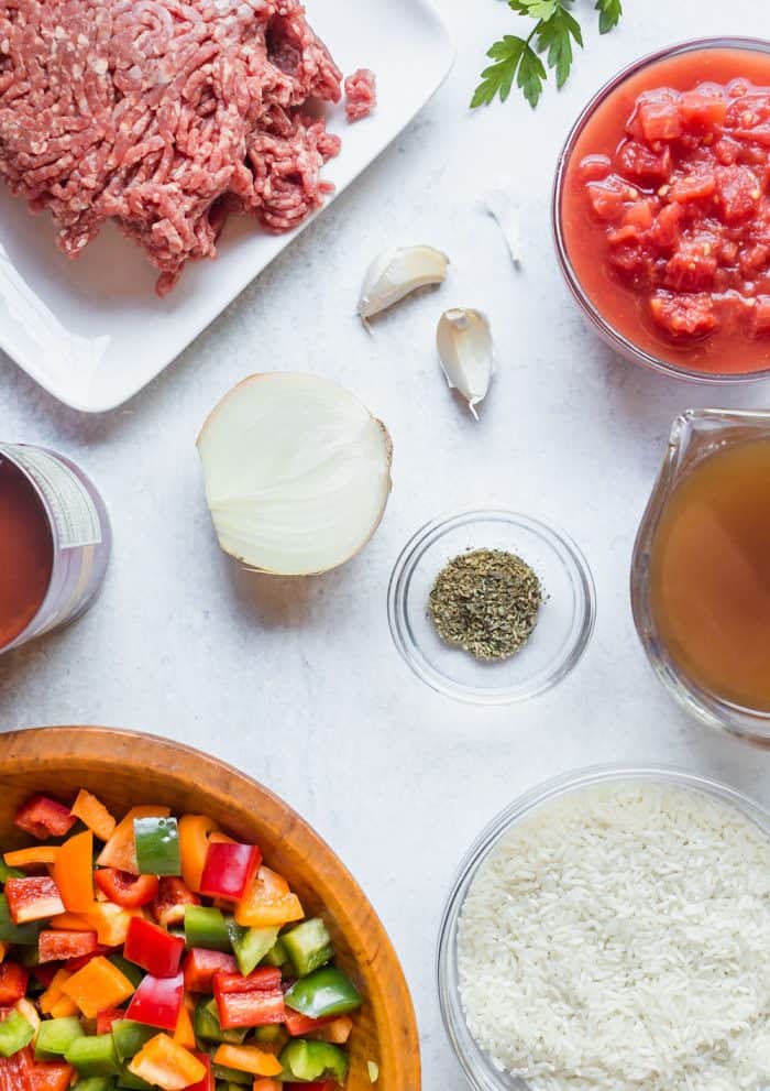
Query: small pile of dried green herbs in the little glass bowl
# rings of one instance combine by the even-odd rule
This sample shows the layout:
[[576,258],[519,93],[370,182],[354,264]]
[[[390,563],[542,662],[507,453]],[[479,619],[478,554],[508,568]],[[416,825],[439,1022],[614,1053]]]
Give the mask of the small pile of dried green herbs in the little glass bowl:
[[506,659],[526,644],[542,602],[529,565],[504,549],[472,549],[447,564],[430,592],[439,636],[477,659]]

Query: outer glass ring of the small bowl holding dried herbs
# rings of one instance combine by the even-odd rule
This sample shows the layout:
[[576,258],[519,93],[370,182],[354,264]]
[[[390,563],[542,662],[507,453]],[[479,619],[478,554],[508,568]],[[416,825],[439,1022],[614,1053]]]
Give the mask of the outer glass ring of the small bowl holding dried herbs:
[[[499,522],[518,525],[548,542],[569,568],[576,592],[572,639],[549,666],[534,675],[529,683],[516,687],[481,689],[464,686],[437,670],[422,654],[407,613],[409,586],[415,569],[430,546],[444,534],[475,522]],[[494,505],[482,509],[443,512],[425,523],[408,539],[399,553],[387,588],[387,619],[396,648],[417,677],[431,689],[454,700],[472,705],[514,705],[529,700],[561,681],[573,669],[588,645],[596,620],[596,589],[591,568],[576,543],[561,528],[541,519],[525,515],[512,508]]]

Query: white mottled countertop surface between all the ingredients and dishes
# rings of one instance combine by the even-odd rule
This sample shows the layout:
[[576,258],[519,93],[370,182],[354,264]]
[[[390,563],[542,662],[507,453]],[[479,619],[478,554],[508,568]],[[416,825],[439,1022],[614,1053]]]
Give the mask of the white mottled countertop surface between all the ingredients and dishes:
[[[391,931],[417,1007],[425,1088],[459,1091],[436,997],[437,928],[460,857],[499,808],[571,768],[629,762],[706,772],[770,803],[770,757],[690,722],[661,690],[627,590],[673,416],[689,405],[762,405],[768,388],[676,384],[616,359],[568,298],[548,215],[560,143],[605,78],[676,40],[770,37],[770,6],[626,0],[620,29],[588,35],[561,94],[549,88],[535,112],[514,94],[474,114],[466,103],[484,51],[516,32],[517,17],[496,0],[441,6],[459,43],[444,87],[146,391],[85,417],[0,357],[0,436],[72,455],[101,487],[116,534],[97,605],[0,661],[0,716],[3,729],[157,732],[283,795],[340,853]],[[593,23],[593,3],[578,7]],[[522,207],[519,273],[477,200],[499,173],[515,178]],[[352,316],[361,273],[393,240],[447,250],[451,280],[367,337]],[[494,324],[498,372],[480,424],[448,393],[432,350],[438,313],[451,305],[483,307]],[[393,434],[383,525],[359,558],[322,578],[239,575],[211,533],[197,430],[228,388],[267,368],[341,381]],[[385,611],[407,536],[447,508],[487,500],[562,524],[587,555],[598,597],[578,669],[550,694],[501,709],[424,686],[396,654]]]

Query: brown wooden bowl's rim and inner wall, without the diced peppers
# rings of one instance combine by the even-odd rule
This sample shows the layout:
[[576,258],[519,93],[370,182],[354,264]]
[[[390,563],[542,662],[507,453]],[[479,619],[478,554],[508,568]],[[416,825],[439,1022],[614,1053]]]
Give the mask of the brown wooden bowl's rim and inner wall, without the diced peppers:
[[417,1024],[396,952],[353,876],[290,807],[232,766],[169,740],[109,728],[35,728],[0,735],[2,847],[29,841],[12,825],[28,796],[42,792],[69,803],[80,787],[118,817],[136,804],[165,804],[177,815],[210,815],[256,841],[308,915],[322,914],[340,965],[365,997],[351,1038],[348,1091],[374,1091],[369,1060],[380,1066],[376,1091],[419,1091]]

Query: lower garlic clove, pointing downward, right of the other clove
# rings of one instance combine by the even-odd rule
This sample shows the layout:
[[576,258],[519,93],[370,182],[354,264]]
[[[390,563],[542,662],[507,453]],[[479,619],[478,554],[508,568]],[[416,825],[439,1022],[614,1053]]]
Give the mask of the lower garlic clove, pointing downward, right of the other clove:
[[444,310],[436,330],[436,347],[447,382],[462,394],[477,421],[476,405],[486,396],[494,370],[486,316],[462,307]]

